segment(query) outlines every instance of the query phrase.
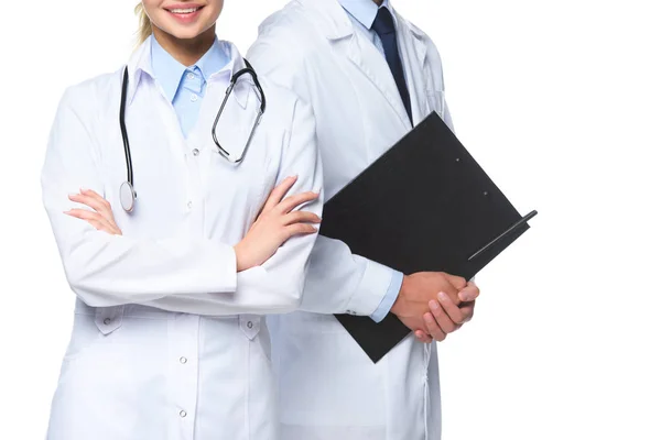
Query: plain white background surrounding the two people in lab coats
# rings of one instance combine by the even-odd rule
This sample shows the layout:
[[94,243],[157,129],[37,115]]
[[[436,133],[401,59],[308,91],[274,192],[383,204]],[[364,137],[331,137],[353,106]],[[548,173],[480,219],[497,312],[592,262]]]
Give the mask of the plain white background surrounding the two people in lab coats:
[[[218,33],[246,51],[284,3],[227,0]],[[126,62],[133,4],[36,0],[0,26],[2,439],[44,437],[73,318],[41,205],[47,132],[66,86]],[[444,439],[660,440],[658,2],[394,7],[441,51],[459,138],[540,211],[441,344]]]

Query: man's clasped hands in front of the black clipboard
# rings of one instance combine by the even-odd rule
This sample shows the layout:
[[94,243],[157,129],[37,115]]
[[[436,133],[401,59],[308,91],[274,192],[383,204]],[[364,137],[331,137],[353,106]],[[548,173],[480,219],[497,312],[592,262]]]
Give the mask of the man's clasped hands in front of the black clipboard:
[[457,330],[473,317],[474,301],[478,295],[477,286],[459,276],[421,272],[404,276],[391,311],[415,332],[420,341],[431,342],[432,337],[443,341],[447,333]]

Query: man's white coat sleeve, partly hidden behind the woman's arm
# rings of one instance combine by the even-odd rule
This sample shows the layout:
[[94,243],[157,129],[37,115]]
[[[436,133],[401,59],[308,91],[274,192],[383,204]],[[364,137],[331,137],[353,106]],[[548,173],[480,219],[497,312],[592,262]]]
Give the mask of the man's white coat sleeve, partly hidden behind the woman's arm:
[[[285,36],[262,33],[248,51],[248,59],[260,75],[294,91],[315,111],[313,87],[310,87],[308,80],[311,74],[305,62],[307,56],[294,59],[291,47],[296,47],[296,44]],[[317,142],[319,150],[323,148],[323,140],[317,139]],[[388,302],[384,298],[395,277],[395,271],[354,255],[342,241],[319,235],[312,251],[301,309],[317,314],[371,316],[380,305]],[[379,320],[379,316],[372,318]]]

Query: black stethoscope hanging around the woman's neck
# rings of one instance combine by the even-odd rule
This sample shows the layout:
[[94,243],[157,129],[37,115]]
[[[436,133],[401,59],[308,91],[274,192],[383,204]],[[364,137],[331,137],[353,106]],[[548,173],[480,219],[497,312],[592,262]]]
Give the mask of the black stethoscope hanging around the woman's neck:
[[[223,103],[220,105],[220,109],[218,109],[218,114],[216,114],[216,120],[214,121],[214,127],[212,128],[212,138],[214,139],[214,143],[218,147],[218,153],[231,164],[239,164],[246,157],[246,152],[248,151],[248,147],[250,146],[250,142],[252,142],[252,138],[254,136],[257,127],[261,122],[262,116],[264,114],[264,111],[267,110],[267,97],[264,95],[264,91],[261,88],[261,85],[259,84],[259,80],[257,79],[257,74],[254,73],[254,69],[252,68],[250,63],[248,63],[247,59],[245,59],[245,62],[246,62],[247,67],[240,69],[239,72],[237,72],[236,74],[232,75],[232,77],[229,81],[229,87],[227,88],[227,91],[225,92],[225,99],[223,100]],[[250,136],[248,138],[248,142],[246,143],[246,146],[243,147],[241,155],[238,158],[232,158],[232,156],[229,154],[229,152],[227,152],[227,150],[225,150],[220,145],[220,142],[218,142],[218,138],[216,138],[216,127],[218,125],[218,121],[220,120],[220,114],[223,114],[223,110],[225,110],[225,105],[227,103],[227,99],[229,98],[229,95],[234,90],[239,78],[245,74],[248,74],[252,77],[252,82],[254,84],[254,86],[257,87],[257,90],[259,91],[261,102],[260,102],[259,111],[257,113],[257,118],[254,119],[254,123],[252,124],[252,130],[250,131]],[[138,195],[136,194],[136,189],[134,189],[134,185],[133,185],[133,162],[131,161],[131,147],[129,146],[129,135],[127,133],[127,124],[126,124],[126,120],[124,120],[128,88],[129,88],[129,69],[127,67],[127,68],[124,68],[123,79],[121,82],[121,103],[119,106],[119,128],[121,130],[121,139],[123,141],[124,156],[127,160],[127,182],[121,184],[121,186],[119,187],[119,201],[124,211],[132,212],[133,208],[136,207],[136,199],[138,198]]]

